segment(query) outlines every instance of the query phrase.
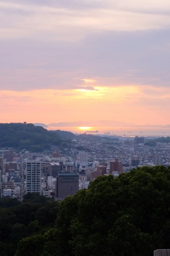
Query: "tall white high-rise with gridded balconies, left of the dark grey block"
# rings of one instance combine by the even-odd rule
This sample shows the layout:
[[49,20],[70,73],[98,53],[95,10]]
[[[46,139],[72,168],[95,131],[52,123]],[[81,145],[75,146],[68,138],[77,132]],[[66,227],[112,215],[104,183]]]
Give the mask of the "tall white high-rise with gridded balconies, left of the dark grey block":
[[26,194],[41,194],[41,162],[26,162]]

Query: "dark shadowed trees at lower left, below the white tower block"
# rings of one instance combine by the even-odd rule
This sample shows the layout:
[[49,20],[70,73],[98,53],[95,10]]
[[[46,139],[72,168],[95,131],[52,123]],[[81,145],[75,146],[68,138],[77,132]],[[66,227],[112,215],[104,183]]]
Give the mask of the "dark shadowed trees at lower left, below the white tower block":
[[13,198],[1,198],[0,255],[14,256],[21,239],[50,230],[56,221],[58,206],[53,199],[37,193],[25,195],[22,203]]

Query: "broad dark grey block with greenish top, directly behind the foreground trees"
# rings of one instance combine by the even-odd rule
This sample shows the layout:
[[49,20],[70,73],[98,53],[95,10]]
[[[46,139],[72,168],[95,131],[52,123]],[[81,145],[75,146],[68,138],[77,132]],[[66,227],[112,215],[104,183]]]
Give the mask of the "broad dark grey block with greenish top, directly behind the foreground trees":
[[59,173],[56,179],[55,200],[63,200],[73,196],[79,190],[79,175],[77,173]]

